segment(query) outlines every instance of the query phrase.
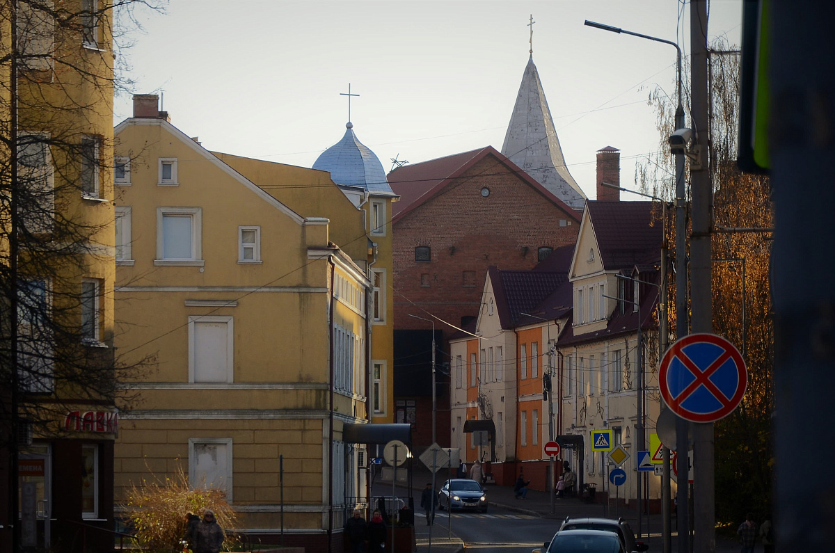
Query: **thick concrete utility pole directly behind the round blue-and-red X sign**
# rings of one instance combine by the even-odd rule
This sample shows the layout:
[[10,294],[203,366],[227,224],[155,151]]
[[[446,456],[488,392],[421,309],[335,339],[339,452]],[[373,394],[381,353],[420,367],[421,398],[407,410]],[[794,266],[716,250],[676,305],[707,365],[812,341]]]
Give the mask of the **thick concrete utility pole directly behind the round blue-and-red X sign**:
[[[691,235],[691,287],[693,332],[711,332],[711,180],[708,173],[710,94],[707,90],[707,10],[706,0],[691,0],[691,117],[698,133],[699,152],[691,164],[693,223]],[[693,550],[716,550],[713,424],[693,424]],[[687,463],[686,451],[679,452]],[[686,479],[680,479],[686,485]]]

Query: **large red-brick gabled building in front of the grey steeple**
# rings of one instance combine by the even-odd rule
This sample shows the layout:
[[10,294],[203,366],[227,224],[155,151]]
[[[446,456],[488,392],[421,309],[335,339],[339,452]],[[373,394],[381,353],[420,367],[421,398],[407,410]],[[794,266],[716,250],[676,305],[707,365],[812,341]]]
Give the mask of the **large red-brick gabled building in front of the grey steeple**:
[[[431,384],[417,395],[431,373],[431,333],[410,332],[431,324],[409,315],[434,319],[443,337],[437,434],[448,445],[450,325],[478,316],[488,266],[533,268],[555,248],[574,244],[580,214],[491,146],[400,167],[388,181],[401,196],[392,205],[395,422],[412,416],[413,444],[431,444]],[[415,348],[416,341],[425,346]]]

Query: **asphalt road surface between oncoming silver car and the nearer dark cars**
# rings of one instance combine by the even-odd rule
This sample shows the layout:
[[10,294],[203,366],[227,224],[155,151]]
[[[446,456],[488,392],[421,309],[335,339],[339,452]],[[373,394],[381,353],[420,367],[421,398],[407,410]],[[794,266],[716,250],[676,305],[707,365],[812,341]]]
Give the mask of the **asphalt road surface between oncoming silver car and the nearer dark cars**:
[[[448,535],[449,517],[438,511],[433,535]],[[554,520],[522,515],[490,505],[487,513],[453,512],[452,532],[463,540],[467,553],[530,553],[550,541],[556,531]],[[426,531],[423,512],[415,516],[418,531]]]

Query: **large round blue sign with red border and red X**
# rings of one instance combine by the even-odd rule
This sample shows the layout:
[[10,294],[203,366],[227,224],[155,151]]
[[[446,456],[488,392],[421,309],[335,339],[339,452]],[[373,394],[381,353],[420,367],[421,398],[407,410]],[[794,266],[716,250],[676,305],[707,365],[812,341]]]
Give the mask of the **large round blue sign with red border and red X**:
[[732,413],[748,383],[739,351],[715,334],[677,340],[661,359],[658,379],[664,403],[694,423],[712,423]]

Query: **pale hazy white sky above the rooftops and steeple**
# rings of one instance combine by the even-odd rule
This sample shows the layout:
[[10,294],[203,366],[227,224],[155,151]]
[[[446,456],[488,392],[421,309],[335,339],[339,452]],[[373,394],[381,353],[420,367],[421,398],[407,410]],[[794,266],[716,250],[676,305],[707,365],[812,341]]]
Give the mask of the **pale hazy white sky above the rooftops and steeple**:
[[[741,0],[711,0],[709,38],[738,45]],[[621,185],[659,150],[660,87],[676,51],[584,26],[589,19],[690,50],[678,0],[170,0],[140,10],[125,76],[163,94],[171,123],[209,150],[310,167],[351,119],[383,169],[492,145],[501,150],[531,49],[574,180],[595,198],[595,155],[621,150]],[[680,17],[681,16],[681,17]],[[131,114],[117,96],[114,124]],[[624,199],[639,199],[638,196]]]

